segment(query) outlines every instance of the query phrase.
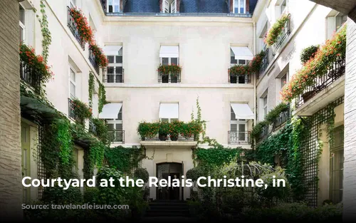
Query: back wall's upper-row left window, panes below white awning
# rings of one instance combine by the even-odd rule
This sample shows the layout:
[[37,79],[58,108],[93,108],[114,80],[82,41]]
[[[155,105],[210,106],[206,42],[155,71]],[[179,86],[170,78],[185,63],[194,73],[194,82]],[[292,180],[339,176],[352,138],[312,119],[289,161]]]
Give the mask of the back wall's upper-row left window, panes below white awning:
[[123,83],[123,69],[122,69],[122,48],[118,55],[108,56],[108,83]]

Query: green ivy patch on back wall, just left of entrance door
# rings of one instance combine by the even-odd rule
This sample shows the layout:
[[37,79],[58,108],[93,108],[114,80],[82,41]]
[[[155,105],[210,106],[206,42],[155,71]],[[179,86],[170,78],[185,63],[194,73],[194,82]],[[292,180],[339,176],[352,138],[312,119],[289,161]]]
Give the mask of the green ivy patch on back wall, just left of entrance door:
[[105,150],[105,160],[108,161],[108,165],[125,173],[130,173],[130,170],[139,167],[139,162],[144,158],[143,148],[118,146],[108,147]]

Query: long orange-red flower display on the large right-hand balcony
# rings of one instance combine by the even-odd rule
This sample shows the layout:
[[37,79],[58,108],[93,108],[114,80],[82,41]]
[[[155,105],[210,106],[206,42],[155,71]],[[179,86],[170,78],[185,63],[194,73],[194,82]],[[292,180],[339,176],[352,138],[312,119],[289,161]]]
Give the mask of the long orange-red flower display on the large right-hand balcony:
[[291,80],[281,90],[281,98],[284,102],[290,102],[293,98],[301,95],[309,85],[313,85],[315,78],[325,75],[328,68],[337,60],[345,57],[346,52],[346,26],[335,33],[333,38],[326,41],[315,56],[310,58]]

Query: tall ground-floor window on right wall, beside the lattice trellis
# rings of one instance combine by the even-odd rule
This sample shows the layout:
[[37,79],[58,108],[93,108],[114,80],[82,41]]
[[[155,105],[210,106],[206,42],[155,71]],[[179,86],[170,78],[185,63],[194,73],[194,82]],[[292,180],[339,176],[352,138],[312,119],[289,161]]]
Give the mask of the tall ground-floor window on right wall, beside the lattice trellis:
[[343,172],[344,172],[344,125],[333,131],[333,145],[330,147],[330,197],[333,202],[342,202]]

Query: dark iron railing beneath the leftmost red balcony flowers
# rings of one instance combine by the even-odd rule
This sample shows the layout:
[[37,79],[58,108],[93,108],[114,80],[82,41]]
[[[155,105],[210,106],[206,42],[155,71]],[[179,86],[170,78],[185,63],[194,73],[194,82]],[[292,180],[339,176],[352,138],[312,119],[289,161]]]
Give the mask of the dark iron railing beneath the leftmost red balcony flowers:
[[40,90],[41,73],[33,69],[31,66],[28,66],[26,63],[20,61],[20,78],[22,81],[30,85],[37,93]]

